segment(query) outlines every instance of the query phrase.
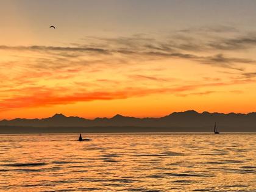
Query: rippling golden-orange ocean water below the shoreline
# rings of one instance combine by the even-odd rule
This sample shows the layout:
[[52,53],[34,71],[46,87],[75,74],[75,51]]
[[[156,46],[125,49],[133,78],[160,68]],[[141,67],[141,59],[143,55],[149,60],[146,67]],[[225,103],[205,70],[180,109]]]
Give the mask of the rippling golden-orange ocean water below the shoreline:
[[0,135],[0,191],[256,191],[255,133]]

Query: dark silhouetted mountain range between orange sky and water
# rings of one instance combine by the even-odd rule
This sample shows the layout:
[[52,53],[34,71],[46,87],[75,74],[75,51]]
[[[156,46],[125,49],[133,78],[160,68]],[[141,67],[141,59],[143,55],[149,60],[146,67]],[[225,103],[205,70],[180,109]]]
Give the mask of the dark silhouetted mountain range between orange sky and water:
[[[217,123],[221,132],[256,132],[256,113],[174,112],[161,118],[85,119],[57,113],[43,119],[3,119],[0,133],[13,132],[212,132]],[[28,131],[29,130],[29,131]],[[47,130],[47,131],[46,131]]]

